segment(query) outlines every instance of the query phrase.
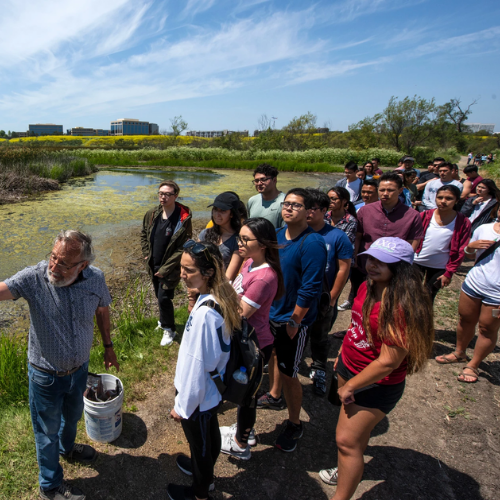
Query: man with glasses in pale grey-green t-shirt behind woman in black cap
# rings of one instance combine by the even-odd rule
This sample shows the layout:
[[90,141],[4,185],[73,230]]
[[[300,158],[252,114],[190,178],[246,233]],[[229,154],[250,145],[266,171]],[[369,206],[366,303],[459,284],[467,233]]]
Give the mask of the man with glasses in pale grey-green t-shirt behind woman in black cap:
[[284,226],[281,203],[285,200],[285,194],[276,187],[278,173],[269,163],[261,163],[253,172],[253,183],[259,194],[252,196],[247,204],[249,217],[264,217],[275,228]]

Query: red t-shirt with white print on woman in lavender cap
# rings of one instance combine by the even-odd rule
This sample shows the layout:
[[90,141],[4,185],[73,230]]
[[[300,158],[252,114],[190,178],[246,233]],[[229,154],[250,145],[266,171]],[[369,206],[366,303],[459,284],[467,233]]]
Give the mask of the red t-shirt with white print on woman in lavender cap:
[[[380,302],[376,302],[370,313],[370,328],[374,346],[372,347],[367,339],[363,328],[363,303],[366,298],[366,281],[359,287],[358,294],[352,305],[351,326],[347,330],[342,344],[342,361],[349,370],[358,374],[370,363],[380,356],[382,344],[393,345],[388,341],[381,341],[378,337],[378,315],[380,312]],[[379,380],[377,384],[393,385],[399,384],[406,377],[407,359],[387,377]]]

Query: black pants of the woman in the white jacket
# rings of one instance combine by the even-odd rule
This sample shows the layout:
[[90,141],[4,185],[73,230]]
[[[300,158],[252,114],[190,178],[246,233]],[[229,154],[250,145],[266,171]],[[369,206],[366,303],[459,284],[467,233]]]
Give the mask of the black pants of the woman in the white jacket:
[[214,481],[214,465],[219,457],[221,437],[217,406],[203,413],[198,410],[181,420],[191,450],[193,490],[198,498],[208,498],[208,487]]

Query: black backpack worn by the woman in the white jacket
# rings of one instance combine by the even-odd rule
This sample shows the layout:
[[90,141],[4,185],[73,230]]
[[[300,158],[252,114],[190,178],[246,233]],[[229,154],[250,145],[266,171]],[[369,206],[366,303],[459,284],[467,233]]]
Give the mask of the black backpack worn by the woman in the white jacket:
[[[203,302],[222,316],[222,310],[213,300]],[[244,366],[248,375],[248,384],[240,384],[233,378],[233,373]],[[264,358],[259,348],[257,334],[246,318],[241,320],[241,328],[235,328],[231,336],[231,351],[224,373],[224,381],[217,369],[210,372],[222,399],[240,406],[255,408],[257,391],[262,383]]]

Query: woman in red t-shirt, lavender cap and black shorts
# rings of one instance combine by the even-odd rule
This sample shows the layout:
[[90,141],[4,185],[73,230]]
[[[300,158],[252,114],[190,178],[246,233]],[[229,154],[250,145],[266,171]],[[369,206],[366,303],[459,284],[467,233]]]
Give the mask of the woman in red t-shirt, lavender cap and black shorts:
[[407,374],[423,368],[434,326],[429,293],[400,238],[379,238],[367,255],[368,279],[352,306],[351,326],[335,362],[342,402],[337,423],[338,467],[320,472],[336,484],[335,500],[352,497],[363,475],[373,428],[401,399]]

